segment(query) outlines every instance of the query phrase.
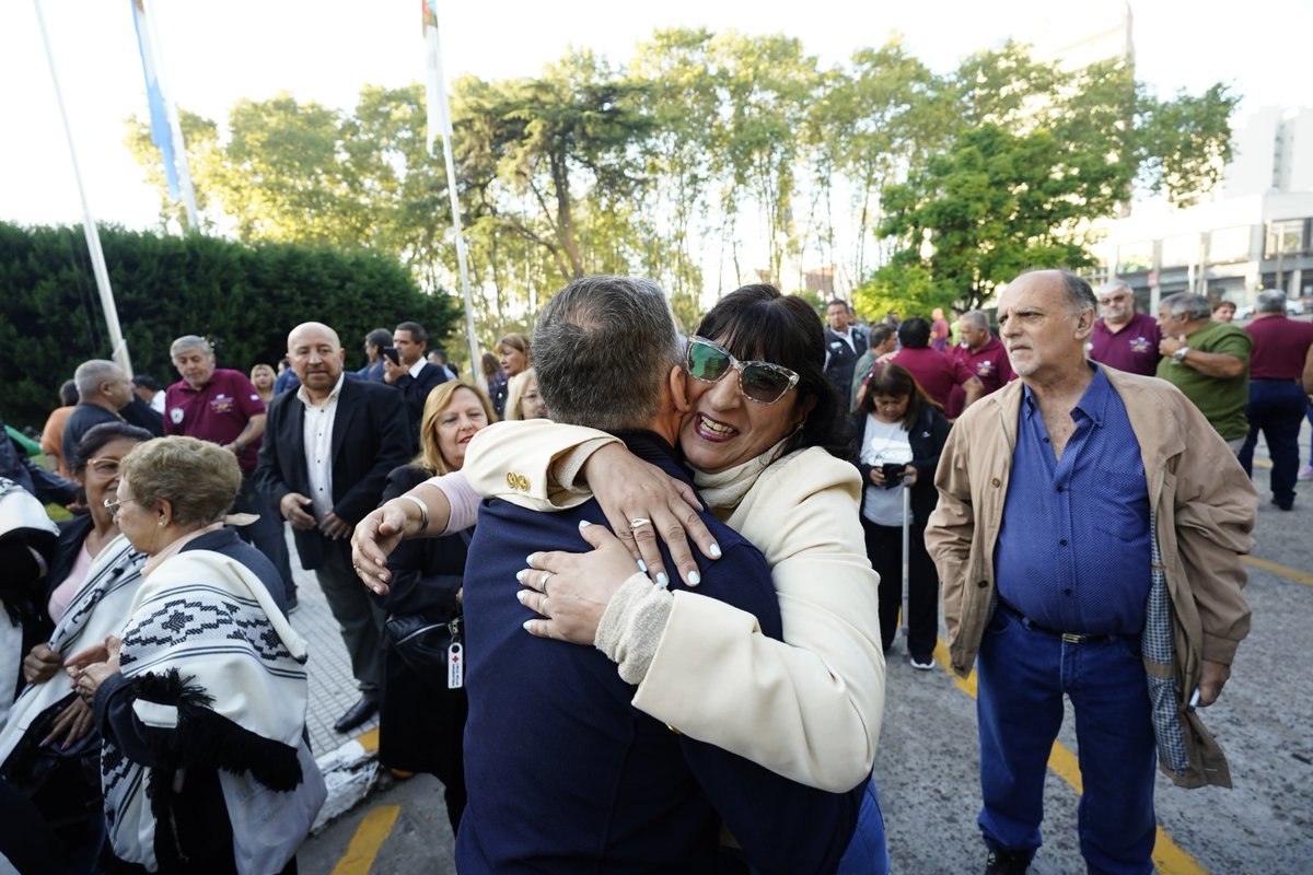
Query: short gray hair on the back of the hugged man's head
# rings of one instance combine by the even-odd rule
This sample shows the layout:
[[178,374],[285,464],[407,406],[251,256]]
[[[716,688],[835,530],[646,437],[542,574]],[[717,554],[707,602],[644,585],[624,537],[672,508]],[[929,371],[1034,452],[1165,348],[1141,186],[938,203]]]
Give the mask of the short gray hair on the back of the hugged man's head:
[[584,277],[548,302],[533,366],[557,422],[647,428],[681,350],[666,293],[651,279]]

